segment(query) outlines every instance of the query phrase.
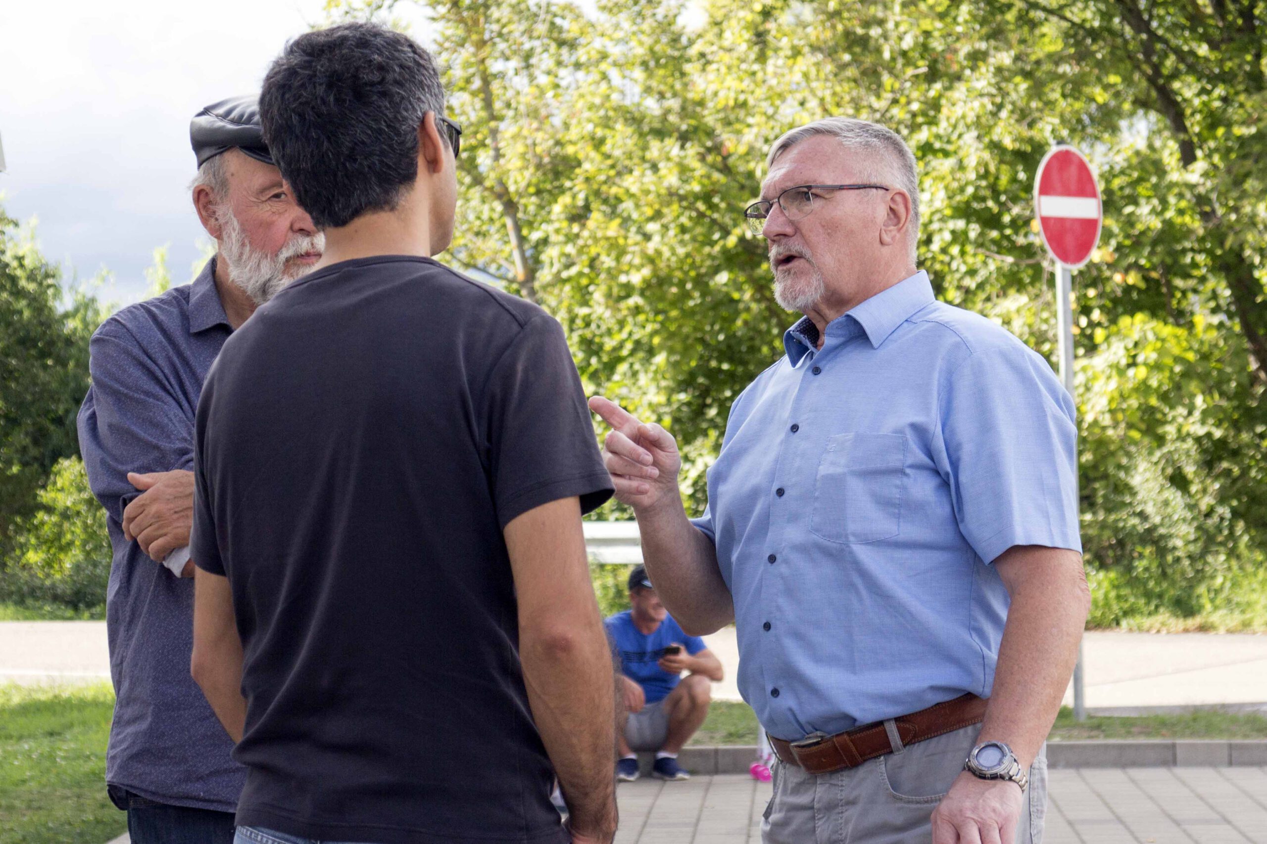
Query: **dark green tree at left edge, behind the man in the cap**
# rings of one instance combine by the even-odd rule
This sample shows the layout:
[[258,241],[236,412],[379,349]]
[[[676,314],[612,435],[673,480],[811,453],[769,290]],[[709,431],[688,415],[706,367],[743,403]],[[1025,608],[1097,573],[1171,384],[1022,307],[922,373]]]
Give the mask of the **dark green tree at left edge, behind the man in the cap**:
[[67,302],[32,233],[0,210],[0,561],[49,469],[79,453],[75,414],[87,391],[87,340],[100,321],[92,297]]

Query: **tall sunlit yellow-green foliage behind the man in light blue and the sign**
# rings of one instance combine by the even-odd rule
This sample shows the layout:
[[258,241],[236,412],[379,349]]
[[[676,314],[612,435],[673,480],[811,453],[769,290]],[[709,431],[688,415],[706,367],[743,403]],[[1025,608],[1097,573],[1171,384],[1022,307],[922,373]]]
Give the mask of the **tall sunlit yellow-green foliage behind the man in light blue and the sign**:
[[915,151],[941,299],[1049,358],[1034,172],[1055,142],[1090,154],[1107,216],[1074,280],[1087,559],[1136,614],[1201,611],[1262,567],[1262,0],[419,5],[466,138],[450,254],[554,313],[587,388],[673,430],[694,507],[793,321],[740,211],[774,138],[853,115]]

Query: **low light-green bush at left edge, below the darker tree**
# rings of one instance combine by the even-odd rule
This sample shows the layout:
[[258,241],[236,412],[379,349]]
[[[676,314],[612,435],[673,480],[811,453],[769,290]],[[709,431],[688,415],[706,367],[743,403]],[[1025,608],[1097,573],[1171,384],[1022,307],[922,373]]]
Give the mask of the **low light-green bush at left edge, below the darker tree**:
[[14,554],[0,573],[0,600],[100,611],[110,576],[110,538],[84,462],[60,459],[35,497],[35,512],[16,524]]

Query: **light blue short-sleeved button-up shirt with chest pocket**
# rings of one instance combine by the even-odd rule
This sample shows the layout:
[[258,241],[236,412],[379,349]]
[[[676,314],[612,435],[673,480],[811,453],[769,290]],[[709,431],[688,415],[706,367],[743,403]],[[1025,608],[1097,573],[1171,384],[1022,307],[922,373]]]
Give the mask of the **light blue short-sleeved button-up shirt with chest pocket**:
[[731,406],[708,507],[739,688],[797,740],[988,697],[1012,545],[1081,550],[1074,406],[1052,367],[920,272],[830,323]]

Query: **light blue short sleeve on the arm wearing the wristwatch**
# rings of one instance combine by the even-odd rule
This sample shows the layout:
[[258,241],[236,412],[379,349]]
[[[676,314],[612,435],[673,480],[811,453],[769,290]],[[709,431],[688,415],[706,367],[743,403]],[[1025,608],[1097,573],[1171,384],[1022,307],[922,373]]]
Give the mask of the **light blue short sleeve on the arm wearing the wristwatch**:
[[983,561],[1014,545],[1082,550],[1074,406],[1047,361],[1020,343],[973,354],[940,419],[955,518]]

